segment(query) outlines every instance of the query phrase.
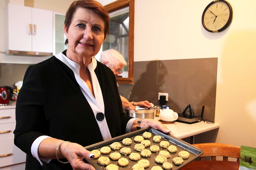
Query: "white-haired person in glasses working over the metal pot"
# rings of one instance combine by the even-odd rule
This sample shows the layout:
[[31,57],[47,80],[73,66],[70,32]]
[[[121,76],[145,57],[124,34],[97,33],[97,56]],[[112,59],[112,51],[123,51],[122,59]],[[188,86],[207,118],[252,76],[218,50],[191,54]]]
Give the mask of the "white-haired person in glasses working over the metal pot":
[[[122,54],[120,54],[118,51],[114,49],[102,51],[102,53],[100,54],[99,61],[102,64],[105,64],[106,66],[108,66],[113,71],[116,77],[123,72],[122,68],[125,65],[127,65],[126,61],[124,60],[124,56],[122,56]],[[123,107],[128,110],[135,110],[135,106],[147,107],[147,108],[151,107],[151,104],[148,101],[129,102],[125,97],[121,95],[120,95],[120,98],[121,98]]]

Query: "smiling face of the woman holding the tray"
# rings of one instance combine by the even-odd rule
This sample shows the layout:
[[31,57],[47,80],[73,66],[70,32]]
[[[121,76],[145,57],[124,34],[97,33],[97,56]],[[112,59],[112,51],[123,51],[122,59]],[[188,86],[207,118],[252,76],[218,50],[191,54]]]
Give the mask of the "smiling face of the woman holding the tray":
[[68,39],[69,54],[95,56],[105,40],[104,20],[93,10],[78,8],[69,26],[68,32],[64,26]]

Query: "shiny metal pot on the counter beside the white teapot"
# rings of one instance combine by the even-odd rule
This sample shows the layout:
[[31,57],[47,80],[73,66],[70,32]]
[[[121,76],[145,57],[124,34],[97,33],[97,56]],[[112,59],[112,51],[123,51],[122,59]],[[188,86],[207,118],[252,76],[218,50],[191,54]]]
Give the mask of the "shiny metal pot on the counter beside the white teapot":
[[136,106],[135,110],[124,109],[127,116],[131,116],[139,119],[154,119],[156,114],[156,108],[141,108]]

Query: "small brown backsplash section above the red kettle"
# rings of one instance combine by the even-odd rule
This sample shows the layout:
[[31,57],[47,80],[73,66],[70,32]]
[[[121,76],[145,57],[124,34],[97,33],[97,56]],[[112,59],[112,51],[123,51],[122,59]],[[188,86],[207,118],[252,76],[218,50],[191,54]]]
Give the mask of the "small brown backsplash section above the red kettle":
[[0,63],[0,86],[13,86],[23,81],[25,72],[31,64]]

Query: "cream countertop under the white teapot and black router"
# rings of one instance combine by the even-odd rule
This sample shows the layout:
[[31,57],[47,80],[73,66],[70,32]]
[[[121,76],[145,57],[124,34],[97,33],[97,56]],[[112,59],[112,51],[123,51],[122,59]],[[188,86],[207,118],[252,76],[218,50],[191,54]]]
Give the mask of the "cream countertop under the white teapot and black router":
[[[155,119],[159,120],[159,117],[155,117]],[[184,139],[186,137],[191,137],[219,128],[219,124],[217,123],[211,124],[203,121],[194,124],[174,122],[172,124],[165,124],[165,126],[168,127],[173,132],[175,137],[178,137],[179,139]]]

